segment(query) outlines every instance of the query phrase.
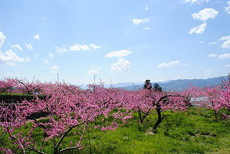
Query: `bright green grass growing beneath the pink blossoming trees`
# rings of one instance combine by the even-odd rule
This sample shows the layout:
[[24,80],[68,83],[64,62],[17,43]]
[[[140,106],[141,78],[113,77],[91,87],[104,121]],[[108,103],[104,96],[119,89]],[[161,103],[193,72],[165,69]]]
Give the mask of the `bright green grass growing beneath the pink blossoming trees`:
[[[156,114],[145,119],[144,124],[138,124],[137,114],[125,125],[114,131],[88,129],[85,133],[82,150],[72,150],[67,153],[230,153],[230,120],[215,121],[210,109],[190,108],[189,111],[168,115],[158,128],[156,134],[151,128],[156,121]],[[22,130],[29,130],[25,126]],[[36,130],[34,137],[39,145],[43,132]],[[61,147],[75,143],[79,136],[70,133]],[[75,142],[74,142],[75,141]],[[15,148],[7,135],[0,137],[0,145]],[[44,151],[52,153],[51,142],[46,142]],[[20,153],[20,151],[18,151]]]

